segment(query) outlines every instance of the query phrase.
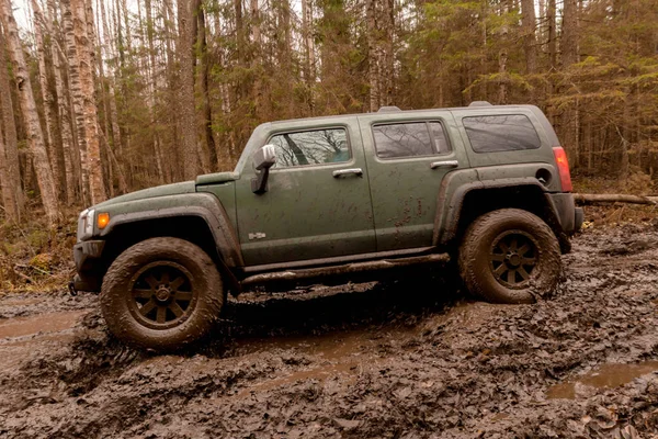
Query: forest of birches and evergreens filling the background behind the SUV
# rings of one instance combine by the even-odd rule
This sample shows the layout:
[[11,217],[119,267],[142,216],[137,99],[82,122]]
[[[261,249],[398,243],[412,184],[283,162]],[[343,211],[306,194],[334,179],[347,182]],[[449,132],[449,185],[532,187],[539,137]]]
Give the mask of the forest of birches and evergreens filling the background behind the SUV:
[[538,105],[577,178],[653,188],[657,0],[0,0],[0,219],[231,170],[262,122],[478,100]]

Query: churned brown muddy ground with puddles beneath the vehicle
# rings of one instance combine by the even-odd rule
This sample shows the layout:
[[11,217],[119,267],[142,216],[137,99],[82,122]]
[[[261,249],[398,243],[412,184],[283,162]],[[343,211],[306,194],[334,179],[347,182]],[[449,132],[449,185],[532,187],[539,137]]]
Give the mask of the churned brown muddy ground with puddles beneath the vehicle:
[[113,340],[95,295],[2,295],[0,437],[658,437],[658,225],[574,244],[534,305],[429,278],[246,294],[181,356]]

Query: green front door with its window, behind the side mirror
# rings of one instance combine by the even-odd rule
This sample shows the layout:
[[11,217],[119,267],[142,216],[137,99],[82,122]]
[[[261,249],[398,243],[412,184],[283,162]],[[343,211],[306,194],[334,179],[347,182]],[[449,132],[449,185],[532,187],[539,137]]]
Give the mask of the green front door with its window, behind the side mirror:
[[[238,230],[247,266],[376,251],[368,173],[355,117],[309,126],[272,124],[268,191],[256,194],[251,158],[236,181]],[[262,145],[260,145],[262,144]]]

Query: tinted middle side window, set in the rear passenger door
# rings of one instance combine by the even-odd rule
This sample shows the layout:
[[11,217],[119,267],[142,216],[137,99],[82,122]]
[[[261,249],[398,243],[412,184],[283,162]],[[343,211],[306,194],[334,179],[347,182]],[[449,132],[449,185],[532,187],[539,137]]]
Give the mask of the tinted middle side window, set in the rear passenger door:
[[432,156],[450,153],[440,122],[412,122],[373,126],[379,158]]

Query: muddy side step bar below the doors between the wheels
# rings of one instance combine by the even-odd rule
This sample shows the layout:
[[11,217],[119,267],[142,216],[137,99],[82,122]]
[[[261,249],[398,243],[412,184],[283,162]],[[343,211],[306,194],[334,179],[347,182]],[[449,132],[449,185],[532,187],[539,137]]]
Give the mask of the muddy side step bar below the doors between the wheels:
[[360,273],[363,271],[390,270],[395,268],[416,266],[420,263],[436,263],[449,261],[450,256],[447,254],[434,254],[399,259],[382,259],[368,262],[347,263],[342,266],[309,268],[302,270],[283,270],[275,271],[272,273],[254,274],[246,278],[240,283],[242,285],[252,285],[277,281],[290,282],[304,279],[332,277],[337,274]]

